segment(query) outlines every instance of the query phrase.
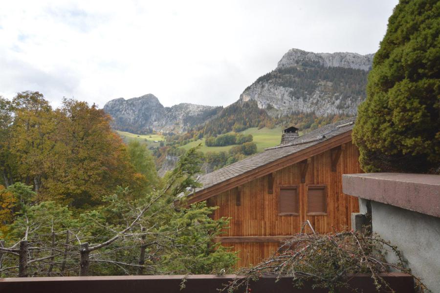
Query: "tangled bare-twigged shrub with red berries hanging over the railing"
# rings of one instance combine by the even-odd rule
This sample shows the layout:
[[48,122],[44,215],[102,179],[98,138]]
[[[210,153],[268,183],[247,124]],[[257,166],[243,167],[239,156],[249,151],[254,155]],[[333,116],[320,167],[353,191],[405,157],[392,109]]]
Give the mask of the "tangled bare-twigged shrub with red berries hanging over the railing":
[[[386,261],[382,253],[384,249],[396,256],[396,263]],[[227,284],[223,292],[236,292],[238,288],[251,292],[252,280],[266,275],[277,275],[292,277],[292,282],[297,287],[302,287],[305,281],[313,281],[315,288],[326,288],[334,293],[340,292],[340,288],[350,288],[347,281],[352,273],[370,274],[377,292],[394,292],[379,275],[390,269],[410,272],[401,252],[376,235],[364,231],[298,233],[286,240],[278,251],[260,264],[240,269],[237,272],[238,277]],[[419,289],[426,289],[415,278]]]

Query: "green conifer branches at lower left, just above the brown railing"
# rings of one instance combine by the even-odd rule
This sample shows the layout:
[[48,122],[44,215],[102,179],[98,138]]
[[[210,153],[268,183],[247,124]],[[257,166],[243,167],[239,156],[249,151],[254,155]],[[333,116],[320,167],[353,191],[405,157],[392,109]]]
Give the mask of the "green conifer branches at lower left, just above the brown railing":
[[[144,158],[142,147],[134,150],[132,158]],[[54,201],[36,204],[32,200],[36,193],[22,183],[2,189],[1,198],[8,199],[2,207],[13,212],[22,205],[14,213],[15,221],[3,230],[6,247],[26,237],[32,243],[29,260],[35,262],[29,273],[36,276],[76,275],[80,245],[86,242],[88,251],[81,255],[88,255],[90,265],[87,262],[84,272],[90,275],[229,271],[236,253],[213,243],[227,229],[229,219],[212,219],[216,208],[204,202],[175,207],[176,200],[184,201],[184,194],[198,187],[194,177],[200,172],[200,159],[197,148],[190,149],[163,188],[132,196],[130,188],[119,186],[102,197],[102,205],[83,212]],[[147,166],[137,163],[137,170]],[[17,258],[8,255],[2,267],[8,268],[3,271],[6,275],[14,273]]]

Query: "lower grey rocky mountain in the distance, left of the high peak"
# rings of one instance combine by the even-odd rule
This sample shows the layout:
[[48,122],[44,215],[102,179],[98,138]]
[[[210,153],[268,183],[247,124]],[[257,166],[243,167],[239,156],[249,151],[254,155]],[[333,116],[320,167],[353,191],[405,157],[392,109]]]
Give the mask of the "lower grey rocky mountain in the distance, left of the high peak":
[[164,107],[153,94],[118,98],[104,105],[104,111],[113,118],[112,127],[132,133],[183,132],[208,121],[221,109],[187,103]]

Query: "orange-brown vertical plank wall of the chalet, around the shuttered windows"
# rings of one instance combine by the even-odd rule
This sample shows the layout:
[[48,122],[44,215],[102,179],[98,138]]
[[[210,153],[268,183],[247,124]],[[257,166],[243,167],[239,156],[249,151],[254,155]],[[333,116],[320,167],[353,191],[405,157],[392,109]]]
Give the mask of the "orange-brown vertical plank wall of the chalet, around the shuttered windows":
[[[302,223],[309,220],[312,227],[321,233],[344,230],[350,226],[352,212],[358,212],[357,198],[342,193],[342,174],[361,173],[359,153],[352,144],[341,146],[336,171],[331,170],[335,150],[327,150],[308,160],[305,183],[301,183],[301,163],[297,163],[272,173],[273,193],[268,192],[269,176],[248,182],[239,188],[220,193],[208,199],[208,205],[220,207],[214,218],[231,217],[230,229],[222,236],[280,236],[300,232]],[[327,215],[307,215],[306,188],[311,184],[327,185]],[[299,194],[299,215],[278,215],[279,186],[296,185]],[[239,205],[238,205],[239,204]],[[278,247],[278,242],[263,243],[223,243],[233,246],[241,260],[238,266],[257,264],[268,257]]]

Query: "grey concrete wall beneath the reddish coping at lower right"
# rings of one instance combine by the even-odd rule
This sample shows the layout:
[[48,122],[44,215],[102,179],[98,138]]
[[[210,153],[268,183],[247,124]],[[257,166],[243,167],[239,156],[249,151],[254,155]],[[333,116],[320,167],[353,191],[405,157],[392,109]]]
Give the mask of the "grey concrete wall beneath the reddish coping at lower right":
[[[366,210],[366,201],[359,201]],[[440,218],[371,201],[373,232],[398,247],[414,275],[440,293]],[[389,261],[396,261],[392,252]]]

